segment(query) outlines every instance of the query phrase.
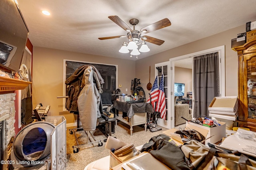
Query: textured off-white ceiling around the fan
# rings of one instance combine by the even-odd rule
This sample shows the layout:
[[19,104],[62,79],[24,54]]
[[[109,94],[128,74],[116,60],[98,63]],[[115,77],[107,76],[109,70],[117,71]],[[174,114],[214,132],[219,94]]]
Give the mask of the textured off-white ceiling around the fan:
[[[126,37],[99,40],[98,37],[126,35],[111,21],[116,15],[135,29],[168,18],[172,25],[145,35],[164,40],[158,46],[147,43],[150,52],[138,59],[238,27],[256,20],[255,0],[17,0],[36,47],[47,47],[121,59],[136,56],[119,53]],[[41,11],[51,15],[44,16]],[[230,40],[231,41],[231,40]]]

